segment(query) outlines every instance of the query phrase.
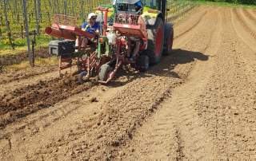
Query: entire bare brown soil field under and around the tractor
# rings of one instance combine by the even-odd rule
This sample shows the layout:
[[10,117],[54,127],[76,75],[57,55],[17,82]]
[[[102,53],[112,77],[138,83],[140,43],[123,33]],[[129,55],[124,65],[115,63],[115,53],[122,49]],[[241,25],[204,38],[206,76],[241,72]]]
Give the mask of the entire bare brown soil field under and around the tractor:
[[202,6],[147,73],[2,83],[0,160],[255,160],[255,22]]

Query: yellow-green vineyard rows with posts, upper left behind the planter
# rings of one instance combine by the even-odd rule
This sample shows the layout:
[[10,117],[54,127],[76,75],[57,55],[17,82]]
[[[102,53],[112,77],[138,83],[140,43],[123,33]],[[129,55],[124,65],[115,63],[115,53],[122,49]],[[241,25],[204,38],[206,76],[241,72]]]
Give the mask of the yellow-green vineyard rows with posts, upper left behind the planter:
[[[44,29],[50,25],[54,14],[66,14],[78,18],[82,23],[85,14],[93,11],[98,5],[109,4],[111,0],[26,0],[26,15],[30,30]],[[0,24],[1,33],[7,36],[11,32],[12,37],[20,37],[21,26],[24,26],[22,14],[22,0],[0,0]],[[6,7],[6,16],[4,9]],[[4,19],[3,19],[4,17]],[[5,24],[3,24],[4,22]],[[40,29],[39,29],[40,28]]]

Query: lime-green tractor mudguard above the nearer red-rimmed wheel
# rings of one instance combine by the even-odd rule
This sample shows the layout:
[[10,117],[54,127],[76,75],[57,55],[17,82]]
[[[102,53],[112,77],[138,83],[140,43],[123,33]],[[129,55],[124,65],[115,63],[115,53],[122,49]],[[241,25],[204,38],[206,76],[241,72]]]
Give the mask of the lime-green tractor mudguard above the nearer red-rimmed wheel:
[[154,26],[157,18],[162,18],[162,13],[159,10],[152,10],[149,7],[144,7],[142,18],[146,26]]

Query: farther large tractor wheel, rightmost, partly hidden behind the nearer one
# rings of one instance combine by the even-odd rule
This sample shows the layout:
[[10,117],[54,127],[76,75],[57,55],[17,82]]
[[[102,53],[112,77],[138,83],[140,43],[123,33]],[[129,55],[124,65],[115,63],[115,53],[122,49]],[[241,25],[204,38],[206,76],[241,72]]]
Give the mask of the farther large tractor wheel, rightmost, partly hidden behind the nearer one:
[[165,26],[165,42],[164,42],[164,50],[163,54],[167,55],[173,49],[174,43],[174,28],[170,23],[166,23]]

